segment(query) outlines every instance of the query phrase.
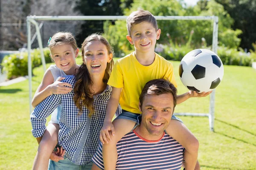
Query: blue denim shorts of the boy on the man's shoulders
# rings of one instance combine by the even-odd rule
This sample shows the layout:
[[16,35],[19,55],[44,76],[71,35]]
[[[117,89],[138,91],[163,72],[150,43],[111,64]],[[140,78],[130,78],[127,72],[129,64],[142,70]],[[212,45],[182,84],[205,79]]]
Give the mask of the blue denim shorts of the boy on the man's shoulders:
[[[125,111],[122,109],[122,113],[119,114],[119,116],[117,116],[116,119],[131,120],[131,121],[135,122],[137,125],[140,125],[141,114],[131,113],[131,112],[128,112],[128,111]],[[116,119],[114,119],[114,120],[116,120]],[[183,123],[182,120],[180,118],[176,117],[175,115],[172,115],[172,120],[177,120],[177,121],[180,121],[181,123]]]

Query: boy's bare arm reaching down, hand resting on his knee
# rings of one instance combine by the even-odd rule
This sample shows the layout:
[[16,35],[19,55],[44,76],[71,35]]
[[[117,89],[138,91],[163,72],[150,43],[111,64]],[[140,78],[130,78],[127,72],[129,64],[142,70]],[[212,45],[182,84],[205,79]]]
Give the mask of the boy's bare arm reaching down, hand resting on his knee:
[[[113,87],[113,89],[112,89],[112,93],[111,93],[110,99],[108,101],[107,109],[106,109],[106,117],[105,117],[102,129],[100,130],[100,135],[99,135],[99,139],[101,140],[101,142],[103,144],[105,142],[108,143],[108,140],[111,140],[111,137],[110,137],[108,131],[111,131],[113,136],[115,135],[115,129],[112,124],[112,119],[113,119],[113,116],[116,113],[116,110],[118,108],[121,91],[122,91],[122,88],[114,88]],[[108,138],[108,140],[107,140],[107,138]]]

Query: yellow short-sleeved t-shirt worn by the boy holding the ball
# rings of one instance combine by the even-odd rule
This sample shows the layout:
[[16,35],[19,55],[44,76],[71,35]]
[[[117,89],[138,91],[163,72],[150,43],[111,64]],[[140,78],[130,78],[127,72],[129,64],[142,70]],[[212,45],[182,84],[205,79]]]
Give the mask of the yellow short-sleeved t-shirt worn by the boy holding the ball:
[[145,84],[152,79],[168,79],[177,87],[172,63],[155,53],[154,62],[144,66],[135,53],[118,59],[114,65],[108,85],[122,88],[119,103],[125,111],[140,113],[139,98]]

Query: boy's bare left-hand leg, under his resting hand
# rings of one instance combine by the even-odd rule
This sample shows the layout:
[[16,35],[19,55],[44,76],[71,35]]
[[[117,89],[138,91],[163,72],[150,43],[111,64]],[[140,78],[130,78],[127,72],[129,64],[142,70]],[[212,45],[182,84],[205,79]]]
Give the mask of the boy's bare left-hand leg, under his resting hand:
[[113,122],[115,136],[111,136],[111,141],[102,146],[103,162],[105,170],[115,170],[117,161],[116,143],[135,126],[135,122],[127,119],[116,119]]

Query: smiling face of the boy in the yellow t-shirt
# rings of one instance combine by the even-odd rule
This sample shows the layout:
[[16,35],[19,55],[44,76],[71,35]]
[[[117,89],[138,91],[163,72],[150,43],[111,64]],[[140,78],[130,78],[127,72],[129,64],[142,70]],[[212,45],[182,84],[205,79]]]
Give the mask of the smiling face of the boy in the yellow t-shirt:
[[161,30],[155,30],[148,22],[135,24],[131,27],[131,36],[127,40],[134,45],[135,51],[140,53],[154,52],[156,41],[159,40]]

